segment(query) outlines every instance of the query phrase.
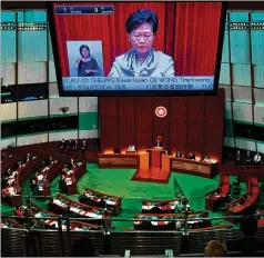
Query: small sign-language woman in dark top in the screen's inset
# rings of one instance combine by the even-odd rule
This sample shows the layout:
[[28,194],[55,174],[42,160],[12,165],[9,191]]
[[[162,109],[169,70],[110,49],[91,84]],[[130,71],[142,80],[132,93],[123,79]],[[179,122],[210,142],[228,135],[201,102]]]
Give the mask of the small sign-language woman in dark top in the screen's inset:
[[90,48],[82,44],[79,48],[81,58],[75,62],[74,68],[78,70],[78,77],[94,77],[99,71],[98,62],[90,56]]

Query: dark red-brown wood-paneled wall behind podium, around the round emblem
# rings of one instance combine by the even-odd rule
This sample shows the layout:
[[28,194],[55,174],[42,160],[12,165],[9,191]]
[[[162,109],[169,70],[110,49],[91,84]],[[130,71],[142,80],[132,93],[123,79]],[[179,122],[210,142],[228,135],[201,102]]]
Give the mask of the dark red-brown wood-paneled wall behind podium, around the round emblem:
[[[167,109],[165,118],[155,108]],[[163,137],[164,147],[174,153],[195,152],[221,161],[224,130],[224,91],[214,97],[99,98],[101,151],[134,145],[139,151]],[[134,139],[134,140],[133,140]]]

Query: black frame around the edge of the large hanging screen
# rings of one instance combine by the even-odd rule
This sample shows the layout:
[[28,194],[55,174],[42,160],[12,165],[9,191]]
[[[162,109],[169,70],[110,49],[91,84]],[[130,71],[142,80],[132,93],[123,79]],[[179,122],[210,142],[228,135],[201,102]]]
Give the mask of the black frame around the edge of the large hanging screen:
[[[122,3],[124,1],[111,1],[111,3]],[[160,1],[164,2],[164,1]],[[72,3],[73,6],[78,6],[74,2],[67,2]],[[82,4],[85,2],[82,2]],[[88,4],[98,4],[100,1],[97,2],[87,2]],[[124,2],[125,3],[125,2]],[[175,3],[177,3],[175,1]],[[216,52],[216,63],[215,63],[215,72],[214,72],[214,87],[213,90],[133,90],[133,91],[67,91],[63,90],[63,81],[62,81],[62,72],[60,69],[60,56],[58,49],[58,40],[57,40],[57,32],[55,32],[55,19],[54,19],[54,7],[53,4],[63,4],[63,2],[47,2],[48,9],[48,22],[50,26],[50,34],[51,34],[51,43],[53,49],[54,56],[54,63],[55,63],[55,72],[58,79],[58,88],[60,97],[154,97],[154,96],[163,96],[163,97],[172,97],[172,96],[216,96],[219,90],[219,79],[220,79],[220,69],[221,69],[221,59],[222,59],[222,49],[223,49],[223,41],[224,41],[224,31],[225,31],[225,18],[226,18],[226,3],[222,2],[222,10],[221,10],[221,19],[220,19],[220,31],[219,31],[219,40],[217,40],[217,52]],[[103,2],[105,4],[105,2]],[[98,4],[99,6],[99,4]],[[165,78],[165,77],[164,77]]]

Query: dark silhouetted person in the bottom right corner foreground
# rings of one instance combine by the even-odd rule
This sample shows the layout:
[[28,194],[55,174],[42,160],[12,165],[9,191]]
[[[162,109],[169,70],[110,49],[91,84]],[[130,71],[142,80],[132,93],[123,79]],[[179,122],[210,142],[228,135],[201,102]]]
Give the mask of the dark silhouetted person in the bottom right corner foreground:
[[264,251],[264,241],[255,239],[257,232],[257,220],[253,216],[244,217],[240,225],[241,239],[226,242],[227,251],[241,251],[242,257],[254,256],[255,251]]

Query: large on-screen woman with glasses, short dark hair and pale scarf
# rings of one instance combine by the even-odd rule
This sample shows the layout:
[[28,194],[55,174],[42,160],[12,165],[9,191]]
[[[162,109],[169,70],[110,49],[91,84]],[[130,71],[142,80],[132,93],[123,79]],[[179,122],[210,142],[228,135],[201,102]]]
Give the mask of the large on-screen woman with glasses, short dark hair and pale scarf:
[[173,77],[172,57],[152,47],[159,27],[156,13],[149,9],[133,12],[125,22],[132,49],[115,58],[110,77]]

